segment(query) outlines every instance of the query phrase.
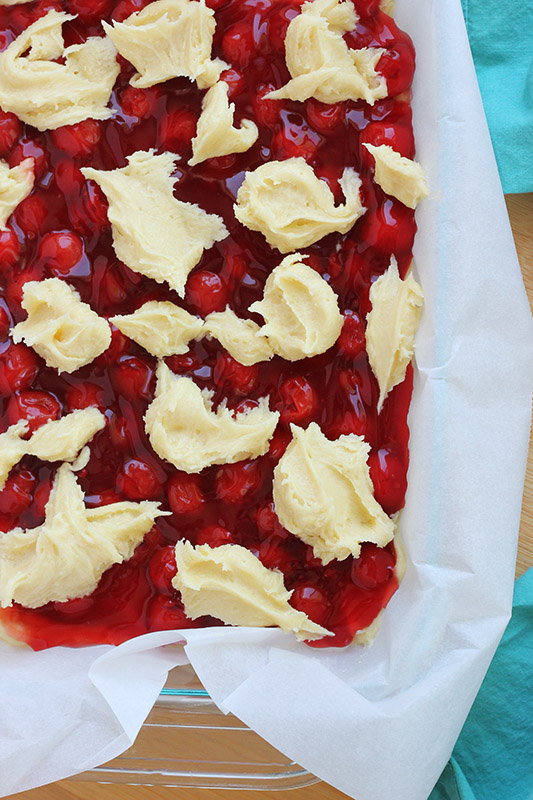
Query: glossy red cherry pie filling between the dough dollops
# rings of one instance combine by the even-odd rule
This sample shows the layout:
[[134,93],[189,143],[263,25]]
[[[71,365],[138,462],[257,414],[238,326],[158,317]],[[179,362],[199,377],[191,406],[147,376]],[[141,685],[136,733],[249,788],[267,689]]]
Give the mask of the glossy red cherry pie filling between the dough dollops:
[[[38,2],[0,9],[0,48],[38,16],[55,7],[80,16],[64,27],[67,44],[101,35],[99,17],[124,19],[146,5],[143,0]],[[260,136],[247,152],[212,159],[193,168],[191,137],[203,93],[186,79],[147,90],[132,89],[134,72],[121,59],[112,95],[117,113],[106,122],[87,120],[39,133],[13,115],[0,112],[0,158],[11,165],[36,159],[38,178],[31,195],[0,233],[0,413],[1,428],[20,417],[33,427],[87,405],[105,411],[106,428],[91,443],[91,460],[79,473],[89,507],[120,499],[158,500],[172,516],[158,520],[133,558],[109,569],[89,597],[49,603],[36,609],[13,606],[1,612],[3,624],[33,648],[52,645],[119,643],[151,630],[220,624],[185,617],[170,580],[175,571],[173,544],[245,545],[270,568],[280,569],[294,589],[292,603],[329,628],[335,637],[315,646],[342,646],[368,625],[397,588],[393,545],[383,550],[365,544],[361,557],[324,567],[310,547],[279,524],[272,505],[272,473],[289,441],[289,424],[319,423],[326,436],[363,435],[370,443],[376,497],[392,514],[404,502],[408,465],[407,411],[412,371],[388,397],[379,417],[378,388],[364,351],[364,320],[369,287],[398,259],[401,273],[411,260],[413,212],[387,197],[371,180],[363,142],[392,144],[414,156],[409,89],[414,51],[409,38],[378,10],[376,0],[355,2],[361,15],[349,46],[386,49],[378,68],[390,97],[373,107],[364,102],[334,106],[262,101],[271,87],[287,82],[283,40],[300,0],[208,0],[216,9],[213,56],[231,63],[223,74],[231,87],[236,122],[257,121]],[[106,200],[86,182],[79,168],[125,165],[136,150],[156,148],[181,156],[176,196],[224,218],[230,236],[206,252],[189,277],[185,300],[138,275],[116,258],[106,215]],[[13,345],[9,328],[25,318],[20,299],[24,283],[47,277],[68,281],[102,316],[129,313],[150,299],[170,299],[201,316],[229,302],[240,315],[262,296],[269,272],[281,261],[264,238],[240,225],[232,206],[244,171],[271,159],[303,155],[328,181],[338,201],[344,167],[361,174],[366,214],[346,235],[333,234],[304,252],[331,284],[345,314],[342,334],[321,356],[290,363],[276,357],[245,367],[216,342],[194,343],[183,356],[167,359],[176,373],[215,391],[238,408],[268,394],[281,412],[267,455],[255,461],[205,469],[187,475],[159,459],[143,426],[153,398],[155,359],[118,331],[108,351],[72,375],[58,377],[33,350]],[[252,315],[253,316],[253,315]],[[262,322],[260,317],[256,321]],[[43,521],[57,464],[27,457],[15,467],[0,493],[0,530],[31,528]]]

